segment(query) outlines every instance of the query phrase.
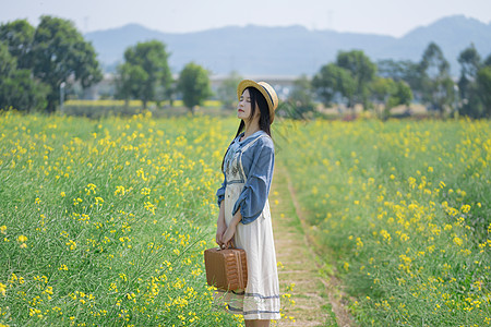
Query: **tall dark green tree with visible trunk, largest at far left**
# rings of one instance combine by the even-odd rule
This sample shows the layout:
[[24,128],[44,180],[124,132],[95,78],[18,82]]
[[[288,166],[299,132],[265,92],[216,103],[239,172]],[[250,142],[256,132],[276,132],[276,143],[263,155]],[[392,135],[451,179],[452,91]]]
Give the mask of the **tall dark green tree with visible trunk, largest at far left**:
[[103,78],[92,44],[84,40],[72,22],[41,16],[32,46],[34,76],[50,86],[48,112],[56,109],[59,89],[70,78],[86,88]]

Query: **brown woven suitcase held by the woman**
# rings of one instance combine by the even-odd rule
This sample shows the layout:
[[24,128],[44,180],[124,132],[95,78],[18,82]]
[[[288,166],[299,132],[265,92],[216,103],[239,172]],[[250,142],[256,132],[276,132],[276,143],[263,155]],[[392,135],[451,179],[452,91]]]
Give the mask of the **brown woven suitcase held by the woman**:
[[225,291],[246,289],[248,262],[242,249],[208,249],[204,252],[206,281]]

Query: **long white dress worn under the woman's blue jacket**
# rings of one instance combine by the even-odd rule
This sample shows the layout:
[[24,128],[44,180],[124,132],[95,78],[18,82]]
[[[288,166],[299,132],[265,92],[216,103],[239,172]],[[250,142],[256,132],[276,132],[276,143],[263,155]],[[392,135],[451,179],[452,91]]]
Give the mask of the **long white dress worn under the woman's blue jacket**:
[[[242,153],[261,137],[270,136],[265,133],[254,133],[249,137],[254,138],[243,147],[240,147],[238,142],[232,144],[224,162],[227,181],[224,198],[227,227],[232,219],[233,206],[247,182],[241,160]],[[267,199],[255,220],[247,225],[242,222],[237,225],[233,239],[236,247],[243,249],[247,254],[248,284],[246,290],[235,292],[217,290],[215,300],[224,302],[227,312],[241,314],[244,319],[279,319],[279,282]]]

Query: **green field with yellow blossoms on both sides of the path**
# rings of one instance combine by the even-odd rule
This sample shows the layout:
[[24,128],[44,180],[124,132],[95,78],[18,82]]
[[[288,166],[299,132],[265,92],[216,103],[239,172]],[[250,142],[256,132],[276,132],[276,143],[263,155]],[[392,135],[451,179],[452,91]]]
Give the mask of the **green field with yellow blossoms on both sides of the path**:
[[[203,250],[237,120],[0,113],[0,326],[241,326]],[[491,324],[491,124],[275,121],[360,326]]]

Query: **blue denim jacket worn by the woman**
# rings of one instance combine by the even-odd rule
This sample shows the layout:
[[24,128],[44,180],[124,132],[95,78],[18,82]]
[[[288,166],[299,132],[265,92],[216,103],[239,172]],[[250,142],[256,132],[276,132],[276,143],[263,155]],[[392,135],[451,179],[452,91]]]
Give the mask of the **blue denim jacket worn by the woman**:
[[[239,147],[246,146],[249,142],[253,141],[255,136],[259,136],[258,133],[267,135],[265,132],[259,131],[240,142],[239,140],[243,135],[242,133],[237,136],[232,143],[230,143],[229,148],[233,143],[238,143]],[[232,210],[233,216],[240,207],[242,223],[250,223],[254,221],[263,211],[273,180],[275,148],[271,137],[259,138],[252,146],[242,153],[242,167],[247,177],[247,182],[239,195],[239,198],[233,205]],[[227,178],[225,177],[221,187],[219,187],[216,192],[218,206],[225,197],[226,187]]]

